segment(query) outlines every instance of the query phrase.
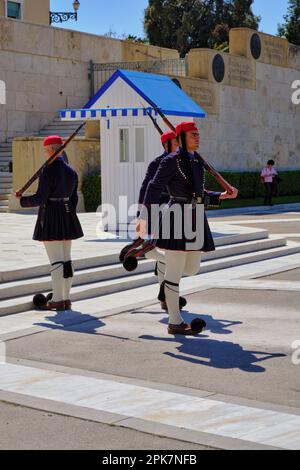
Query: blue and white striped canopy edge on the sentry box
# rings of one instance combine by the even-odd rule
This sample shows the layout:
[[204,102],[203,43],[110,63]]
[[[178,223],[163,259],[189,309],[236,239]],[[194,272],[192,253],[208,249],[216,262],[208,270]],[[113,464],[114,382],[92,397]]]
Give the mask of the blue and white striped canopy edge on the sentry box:
[[147,111],[157,116],[153,108],[102,108],[102,109],[62,109],[60,117],[62,121],[83,121],[85,119],[99,120],[101,118],[114,117],[140,117],[147,116]]

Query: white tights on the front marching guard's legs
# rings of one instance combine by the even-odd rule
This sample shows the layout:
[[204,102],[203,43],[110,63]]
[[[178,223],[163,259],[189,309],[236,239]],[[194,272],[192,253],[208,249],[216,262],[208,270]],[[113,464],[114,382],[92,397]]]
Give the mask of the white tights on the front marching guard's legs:
[[158,262],[158,279],[160,285],[165,284],[166,302],[169,313],[169,323],[180,325],[183,318],[179,308],[179,284],[181,278],[186,276],[196,276],[200,269],[200,251],[162,251],[155,248],[146,254],[147,259],[154,259]]

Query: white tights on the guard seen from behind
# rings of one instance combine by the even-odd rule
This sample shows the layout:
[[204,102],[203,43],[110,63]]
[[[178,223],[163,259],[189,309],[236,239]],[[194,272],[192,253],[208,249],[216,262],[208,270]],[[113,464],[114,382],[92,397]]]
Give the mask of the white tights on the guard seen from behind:
[[[45,242],[49,261],[51,263],[51,277],[53,287],[53,302],[70,300],[73,277],[64,279],[64,264],[71,261],[71,241]],[[56,264],[58,263],[58,264]]]

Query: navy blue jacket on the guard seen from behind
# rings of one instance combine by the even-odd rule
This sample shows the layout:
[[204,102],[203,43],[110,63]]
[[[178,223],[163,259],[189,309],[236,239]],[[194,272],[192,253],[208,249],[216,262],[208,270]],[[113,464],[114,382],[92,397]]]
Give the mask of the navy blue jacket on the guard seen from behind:
[[65,163],[63,157],[59,157],[43,170],[36,194],[22,197],[20,204],[22,207],[38,207],[45,205],[49,198],[70,198],[70,203],[76,208],[77,189],[77,173]]

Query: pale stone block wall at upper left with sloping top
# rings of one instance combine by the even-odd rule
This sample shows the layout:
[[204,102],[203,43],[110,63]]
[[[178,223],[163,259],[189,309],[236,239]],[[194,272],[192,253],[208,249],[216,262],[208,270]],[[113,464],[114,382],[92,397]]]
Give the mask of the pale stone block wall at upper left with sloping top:
[[0,142],[39,131],[61,108],[90,98],[89,61],[178,58],[178,52],[92,34],[0,18]]

